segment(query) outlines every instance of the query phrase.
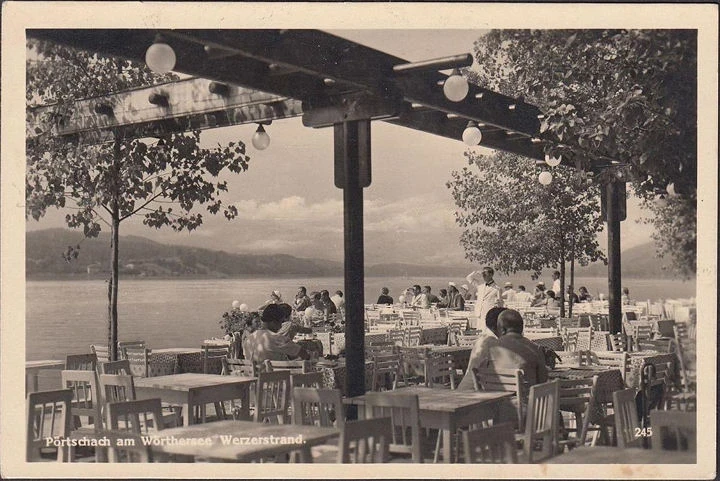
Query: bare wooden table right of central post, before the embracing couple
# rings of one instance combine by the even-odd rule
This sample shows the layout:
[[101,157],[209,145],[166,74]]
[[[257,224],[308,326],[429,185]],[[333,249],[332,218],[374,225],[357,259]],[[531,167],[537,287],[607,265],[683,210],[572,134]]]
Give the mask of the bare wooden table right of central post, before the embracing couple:
[[[385,394],[417,394],[420,405],[420,426],[438,429],[443,436],[443,461],[450,463],[453,452],[453,434],[458,428],[494,419],[500,404],[514,396],[500,391],[450,391],[421,386],[385,391]],[[365,396],[345,399],[347,404],[365,405]],[[362,416],[362,410],[358,410]]]

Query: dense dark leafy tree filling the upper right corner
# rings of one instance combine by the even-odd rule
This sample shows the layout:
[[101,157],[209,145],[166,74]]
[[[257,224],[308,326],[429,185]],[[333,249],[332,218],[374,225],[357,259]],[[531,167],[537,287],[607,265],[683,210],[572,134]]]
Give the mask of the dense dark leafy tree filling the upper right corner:
[[[608,177],[611,160],[624,164],[618,175],[654,214],[659,253],[695,272],[696,31],[494,30],[475,57],[471,81],[543,110],[550,153]],[[671,183],[680,199],[656,206]]]

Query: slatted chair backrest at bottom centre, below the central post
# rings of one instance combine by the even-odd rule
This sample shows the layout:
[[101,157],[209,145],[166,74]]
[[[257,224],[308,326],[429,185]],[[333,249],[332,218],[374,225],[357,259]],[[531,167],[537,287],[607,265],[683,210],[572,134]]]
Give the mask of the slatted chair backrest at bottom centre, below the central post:
[[374,418],[345,423],[340,433],[339,463],[384,463],[392,441],[392,420]]

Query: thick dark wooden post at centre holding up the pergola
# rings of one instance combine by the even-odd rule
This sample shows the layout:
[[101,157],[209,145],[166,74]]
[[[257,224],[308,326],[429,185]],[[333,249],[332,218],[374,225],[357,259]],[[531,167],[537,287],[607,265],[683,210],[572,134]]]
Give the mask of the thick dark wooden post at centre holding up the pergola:
[[[344,204],[345,392],[352,397],[365,394],[363,187],[370,183],[370,121],[337,123],[334,133],[335,185],[343,189]],[[347,416],[357,419],[357,408]]]

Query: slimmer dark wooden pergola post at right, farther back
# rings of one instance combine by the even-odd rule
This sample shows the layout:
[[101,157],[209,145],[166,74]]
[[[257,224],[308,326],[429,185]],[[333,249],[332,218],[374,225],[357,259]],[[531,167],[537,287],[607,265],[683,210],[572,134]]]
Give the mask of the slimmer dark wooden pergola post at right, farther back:
[[608,301],[610,332],[622,331],[622,278],[620,274],[620,196],[625,196],[624,182],[609,182],[603,193],[606,199],[608,225]]

